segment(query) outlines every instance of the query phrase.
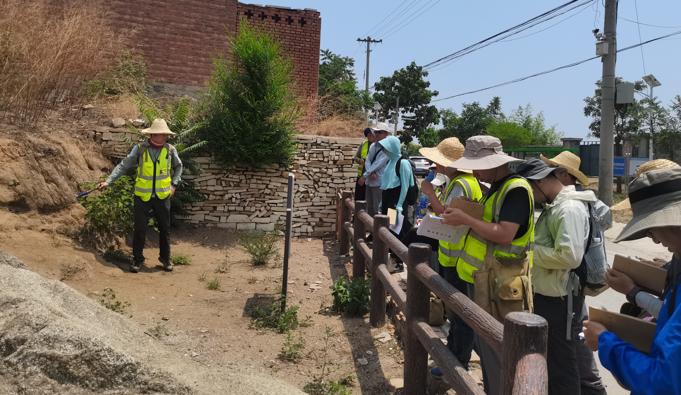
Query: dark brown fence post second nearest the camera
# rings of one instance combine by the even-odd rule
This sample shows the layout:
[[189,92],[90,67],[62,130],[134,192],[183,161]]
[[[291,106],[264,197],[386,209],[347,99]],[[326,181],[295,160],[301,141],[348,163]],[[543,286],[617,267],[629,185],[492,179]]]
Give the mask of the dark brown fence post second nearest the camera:
[[407,395],[426,393],[428,380],[428,351],[414,333],[414,322],[428,322],[430,291],[414,273],[419,263],[430,262],[431,248],[427,244],[409,246],[407,259],[407,336],[404,350],[404,390]]

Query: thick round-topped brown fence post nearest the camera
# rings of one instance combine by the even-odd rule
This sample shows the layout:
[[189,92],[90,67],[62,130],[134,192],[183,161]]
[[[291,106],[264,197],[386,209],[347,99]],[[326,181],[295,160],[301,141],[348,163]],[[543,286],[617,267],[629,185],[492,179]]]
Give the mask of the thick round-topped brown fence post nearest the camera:
[[[407,299],[407,302],[409,299]],[[513,390],[516,376],[527,377],[543,375],[544,380],[529,380],[536,388],[523,388],[523,394],[548,394],[548,379],[546,379],[546,365],[544,368],[524,372],[517,372],[518,362],[529,354],[541,355],[546,361],[546,342],[548,338],[548,323],[536,314],[513,312],[504,319],[504,341],[501,355],[501,388],[503,394],[515,393]],[[521,368],[531,365],[522,364]],[[542,371],[543,370],[543,371]]]

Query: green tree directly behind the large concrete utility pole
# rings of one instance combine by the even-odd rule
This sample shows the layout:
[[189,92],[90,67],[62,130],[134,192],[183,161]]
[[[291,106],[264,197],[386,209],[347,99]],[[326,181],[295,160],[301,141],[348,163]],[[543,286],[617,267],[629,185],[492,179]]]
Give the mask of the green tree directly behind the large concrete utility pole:
[[[620,77],[616,83],[622,82]],[[589,129],[594,136],[600,137],[601,132],[601,81],[596,82],[596,93],[584,98],[584,116],[591,118]],[[631,104],[615,106],[615,155],[622,155],[622,142],[626,137],[639,133],[643,124],[645,112],[641,104],[634,99]]]

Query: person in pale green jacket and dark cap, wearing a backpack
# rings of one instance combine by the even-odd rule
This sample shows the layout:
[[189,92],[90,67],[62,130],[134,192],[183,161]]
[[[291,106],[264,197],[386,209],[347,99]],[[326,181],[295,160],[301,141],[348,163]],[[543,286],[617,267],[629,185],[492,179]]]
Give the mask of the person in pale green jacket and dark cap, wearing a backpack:
[[582,393],[578,347],[584,287],[576,269],[591,235],[588,205],[597,199],[593,191],[564,186],[556,176],[559,170],[531,159],[518,168],[518,175],[530,182],[535,202],[544,206],[535,226],[531,273],[534,313],[549,324],[549,393],[572,395]]

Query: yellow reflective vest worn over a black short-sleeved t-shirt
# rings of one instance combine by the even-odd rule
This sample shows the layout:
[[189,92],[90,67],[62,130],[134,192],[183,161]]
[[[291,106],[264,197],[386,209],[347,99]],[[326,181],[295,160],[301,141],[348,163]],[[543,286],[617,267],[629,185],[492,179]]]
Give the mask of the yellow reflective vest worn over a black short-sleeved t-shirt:
[[485,257],[488,254],[488,248],[494,254],[494,257],[501,259],[520,259],[527,257],[530,267],[532,266],[532,245],[534,243],[534,197],[532,195],[532,187],[524,178],[511,177],[507,179],[504,184],[494,192],[487,196],[483,203],[485,206],[483,220],[485,222],[499,222],[499,212],[501,206],[506,198],[508,192],[515,188],[523,188],[527,191],[529,196],[528,204],[530,205],[530,216],[527,223],[527,231],[517,239],[511,241],[510,244],[499,245],[488,242],[481,236],[473,232],[468,232],[466,241],[464,243],[463,251],[459,256],[456,271],[459,277],[473,284],[473,273],[479,268],[483,267]]

